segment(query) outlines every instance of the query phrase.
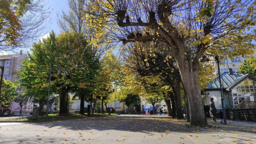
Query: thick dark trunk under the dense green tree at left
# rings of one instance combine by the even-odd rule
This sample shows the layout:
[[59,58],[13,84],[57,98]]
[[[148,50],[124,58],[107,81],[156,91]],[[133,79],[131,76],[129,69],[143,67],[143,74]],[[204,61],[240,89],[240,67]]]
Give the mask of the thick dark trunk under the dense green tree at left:
[[60,89],[60,116],[68,115],[68,94],[66,87]]

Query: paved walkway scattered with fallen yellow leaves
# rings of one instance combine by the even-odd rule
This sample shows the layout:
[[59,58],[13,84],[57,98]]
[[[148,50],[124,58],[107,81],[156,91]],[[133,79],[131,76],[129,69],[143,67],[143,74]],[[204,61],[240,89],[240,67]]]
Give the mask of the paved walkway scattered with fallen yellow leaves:
[[[256,123],[228,121],[188,128],[166,116],[108,116],[0,124],[0,144],[252,144]],[[210,125],[213,123],[209,122]]]

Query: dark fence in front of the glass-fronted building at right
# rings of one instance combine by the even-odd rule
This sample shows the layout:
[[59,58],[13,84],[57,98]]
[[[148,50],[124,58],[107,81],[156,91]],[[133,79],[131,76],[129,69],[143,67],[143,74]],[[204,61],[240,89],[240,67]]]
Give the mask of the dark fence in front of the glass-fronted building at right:
[[256,122],[256,109],[230,109],[227,113],[227,118],[230,120]]

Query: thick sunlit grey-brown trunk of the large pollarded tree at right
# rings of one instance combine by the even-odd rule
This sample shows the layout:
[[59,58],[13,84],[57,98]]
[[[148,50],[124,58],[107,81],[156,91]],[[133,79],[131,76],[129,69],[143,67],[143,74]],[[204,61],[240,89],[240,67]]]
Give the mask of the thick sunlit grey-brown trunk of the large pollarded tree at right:
[[[179,65],[182,82],[187,92],[189,110],[190,110],[190,125],[192,126],[208,126],[202,105],[200,84],[198,80],[198,63],[189,61]],[[179,62],[177,62],[179,64]]]

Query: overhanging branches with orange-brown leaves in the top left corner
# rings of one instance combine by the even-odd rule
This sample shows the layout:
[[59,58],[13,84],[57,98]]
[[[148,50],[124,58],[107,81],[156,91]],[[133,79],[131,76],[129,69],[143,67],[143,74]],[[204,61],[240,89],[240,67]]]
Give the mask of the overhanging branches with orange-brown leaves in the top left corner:
[[47,23],[44,0],[1,0],[0,50],[26,48],[37,40]]

